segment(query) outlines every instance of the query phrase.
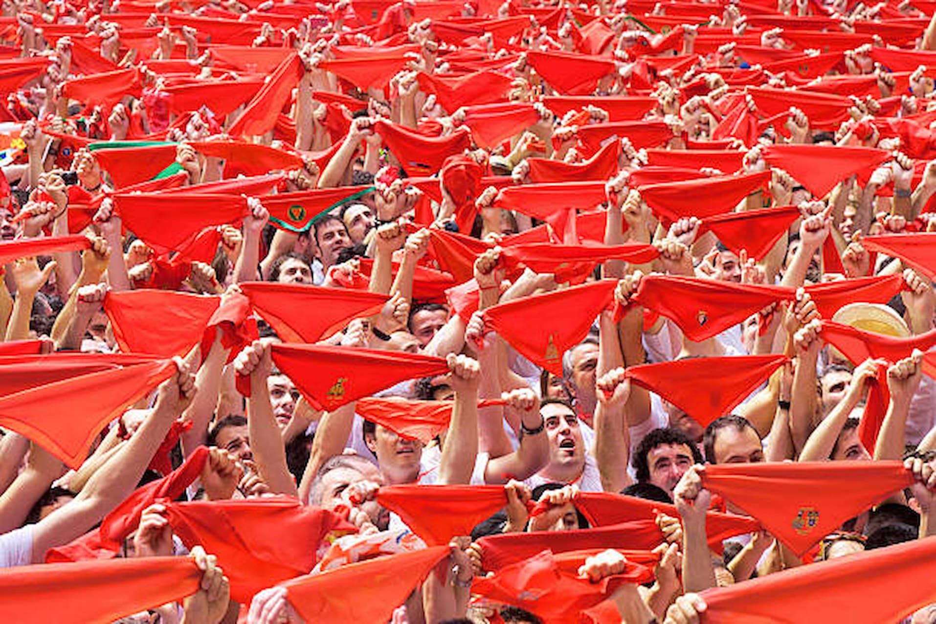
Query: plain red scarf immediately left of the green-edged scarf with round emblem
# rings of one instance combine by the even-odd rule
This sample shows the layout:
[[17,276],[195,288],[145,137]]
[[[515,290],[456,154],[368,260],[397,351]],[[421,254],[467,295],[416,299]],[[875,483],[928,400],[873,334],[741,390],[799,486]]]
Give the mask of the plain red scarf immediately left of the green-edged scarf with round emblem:
[[248,214],[244,196],[118,193],[113,199],[127,229],[160,253],[183,248],[206,227],[240,223]]

